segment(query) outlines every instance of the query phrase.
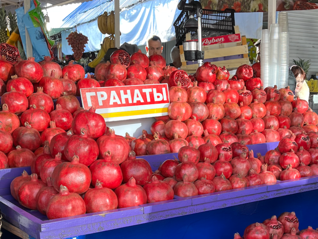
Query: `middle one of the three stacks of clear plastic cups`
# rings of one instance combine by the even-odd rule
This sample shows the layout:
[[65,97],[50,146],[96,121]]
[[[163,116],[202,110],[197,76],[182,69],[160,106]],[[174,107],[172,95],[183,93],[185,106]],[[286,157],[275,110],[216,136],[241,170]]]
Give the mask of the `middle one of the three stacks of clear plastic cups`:
[[269,54],[269,84],[271,87],[275,85],[279,86],[279,72],[280,72],[280,62],[279,62],[279,46],[280,46],[280,25],[271,24],[269,33],[270,42],[270,54]]

